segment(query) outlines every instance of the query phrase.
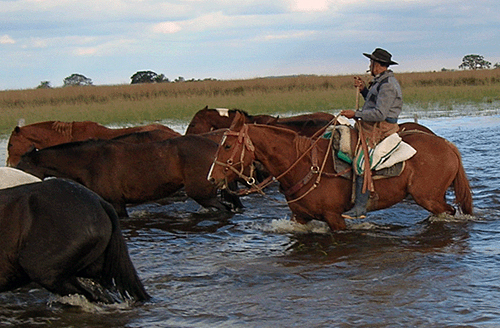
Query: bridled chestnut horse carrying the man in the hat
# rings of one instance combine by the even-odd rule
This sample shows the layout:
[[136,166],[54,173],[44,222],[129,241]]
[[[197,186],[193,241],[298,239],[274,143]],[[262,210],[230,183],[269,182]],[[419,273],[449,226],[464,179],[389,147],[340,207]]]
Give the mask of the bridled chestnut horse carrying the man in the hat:
[[[407,132],[402,137],[417,153],[406,161],[398,177],[374,180],[378,197],[371,200],[369,210],[390,207],[409,194],[433,214],[454,214],[455,209],[445,200],[446,190],[453,185],[456,203],[463,213],[471,214],[472,195],[458,149],[433,134]],[[298,222],[318,219],[332,230],[344,229],[341,214],[352,206],[352,182],[336,174],[332,156],[326,156],[329,141],[313,142],[288,129],[245,124],[237,116],[219,146],[208,179],[221,186],[241,166],[259,160],[280,182]],[[306,152],[311,145],[316,147]]]

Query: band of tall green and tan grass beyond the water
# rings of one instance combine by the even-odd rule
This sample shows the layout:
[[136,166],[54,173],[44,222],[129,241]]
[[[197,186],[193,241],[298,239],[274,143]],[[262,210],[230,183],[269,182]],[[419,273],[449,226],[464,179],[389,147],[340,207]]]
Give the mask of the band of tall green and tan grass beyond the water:
[[[447,109],[500,100],[500,69],[396,72],[396,78],[405,106]],[[0,134],[9,134],[21,118],[26,124],[88,120],[121,125],[190,120],[205,106],[250,114],[336,112],[355,107],[352,80],[352,75],[297,76],[0,91]]]

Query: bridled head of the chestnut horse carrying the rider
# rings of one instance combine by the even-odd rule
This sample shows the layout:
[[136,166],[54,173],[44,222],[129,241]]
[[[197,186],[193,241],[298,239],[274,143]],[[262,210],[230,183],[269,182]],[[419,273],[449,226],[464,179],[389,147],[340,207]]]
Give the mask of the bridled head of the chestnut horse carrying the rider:
[[244,175],[245,168],[250,166],[254,159],[255,147],[248,135],[245,116],[237,112],[229,130],[222,137],[207,179],[222,188],[226,186],[227,181],[236,177],[243,178],[248,184],[254,184],[253,177]]

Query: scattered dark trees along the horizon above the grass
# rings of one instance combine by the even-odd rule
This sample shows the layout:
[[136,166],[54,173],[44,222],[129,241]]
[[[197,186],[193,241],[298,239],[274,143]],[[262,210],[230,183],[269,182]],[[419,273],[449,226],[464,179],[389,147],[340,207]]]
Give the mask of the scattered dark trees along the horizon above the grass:
[[[491,68],[491,62],[484,59],[481,55],[470,54],[466,55],[462,58],[462,63],[458,66],[459,69],[489,69]],[[500,62],[495,63],[493,68],[500,68]],[[130,84],[141,84],[141,83],[169,83],[170,80],[164,74],[157,74],[153,71],[138,71],[134,73],[130,77]],[[204,79],[213,80],[213,79]],[[173,82],[194,82],[194,81],[202,81],[202,80],[185,80],[182,76],[179,76]],[[92,79],[87,78],[82,74],[71,74],[63,80],[63,86],[89,86],[93,85]],[[40,85],[37,87],[38,89],[50,89],[52,86],[50,85],[50,81],[42,81]]]

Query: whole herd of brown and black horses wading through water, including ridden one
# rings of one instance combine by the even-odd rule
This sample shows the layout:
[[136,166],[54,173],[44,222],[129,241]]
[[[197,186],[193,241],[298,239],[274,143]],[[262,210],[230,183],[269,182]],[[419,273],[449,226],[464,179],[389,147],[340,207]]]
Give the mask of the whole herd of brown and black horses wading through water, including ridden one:
[[[128,215],[129,205],[182,190],[203,207],[238,211],[239,195],[262,191],[274,177],[294,220],[344,229],[352,178],[338,172],[331,141],[322,137],[336,122],[328,113],[280,118],[204,108],[184,135],[161,124],[15,127],[7,167],[0,170],[0,292],[36,282],[103,303],[148,300],[119,217]],[[369,210],[410,195],[433,214],[454,214],[445,199],[453,187],[458,209],[471,214],[458,149],[417,123],[401,124],[399,134],[417,153],[399,175],[374,179]],[[250,189],[238,190],[242,183]]]

